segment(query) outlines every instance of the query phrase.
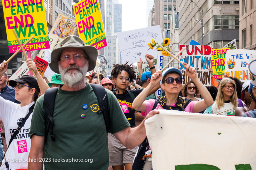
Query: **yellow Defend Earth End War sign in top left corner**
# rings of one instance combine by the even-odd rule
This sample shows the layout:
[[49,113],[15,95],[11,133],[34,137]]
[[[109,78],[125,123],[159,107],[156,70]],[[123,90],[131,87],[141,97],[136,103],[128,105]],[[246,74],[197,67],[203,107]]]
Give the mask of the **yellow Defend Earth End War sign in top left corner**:
[[19,43],[13,34],[15,29],[21,44],[34,37],[25,51],[50,48],[44,1],[42,0],[2,0],[9,53],[15,53]]

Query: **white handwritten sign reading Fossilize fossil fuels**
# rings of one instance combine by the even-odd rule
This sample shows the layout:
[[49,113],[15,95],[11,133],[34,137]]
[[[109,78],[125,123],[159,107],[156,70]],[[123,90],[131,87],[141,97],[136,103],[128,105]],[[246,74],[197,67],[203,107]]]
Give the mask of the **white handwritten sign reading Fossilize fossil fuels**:
[[[123,31],[117,33],[122,62],[136,63],[146,54],[157,57],[156,47],[150,49],[148,46],[152,39],[158,43],[163,42],[160,26],[150,26],[146,28]],[[145,61],[145,60],[144,60]]]

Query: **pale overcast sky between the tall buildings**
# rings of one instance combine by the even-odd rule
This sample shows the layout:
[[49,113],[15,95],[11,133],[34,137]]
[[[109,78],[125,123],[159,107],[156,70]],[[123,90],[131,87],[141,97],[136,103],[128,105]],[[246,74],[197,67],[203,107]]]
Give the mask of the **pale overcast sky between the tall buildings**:
[[122,31],[145,28],[147,15],[146,0],[119,0],[123,4]]

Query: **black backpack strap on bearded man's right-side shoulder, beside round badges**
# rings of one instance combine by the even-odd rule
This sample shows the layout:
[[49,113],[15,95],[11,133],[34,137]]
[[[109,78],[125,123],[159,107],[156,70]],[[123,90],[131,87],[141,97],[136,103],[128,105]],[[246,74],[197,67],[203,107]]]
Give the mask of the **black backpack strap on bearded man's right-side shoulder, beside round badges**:
[[108,113],[108,95],[105,88],[102,85],[90,84],[94,93],[97,96],[98,102],[100,104],[100,110],[97,111],[98,114],[102,113],[104,121],[106,124],[107,133],[110,133],[110,119]]

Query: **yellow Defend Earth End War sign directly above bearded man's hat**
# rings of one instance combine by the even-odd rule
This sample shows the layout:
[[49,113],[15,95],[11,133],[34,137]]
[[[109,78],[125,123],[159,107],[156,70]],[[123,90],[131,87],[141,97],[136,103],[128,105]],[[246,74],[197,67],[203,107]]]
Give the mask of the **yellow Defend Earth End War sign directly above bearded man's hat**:
[[86,45],[92,45],[97,49],[107,46],[100,4],[98,0],[83,0],[73,5],[77,31],[79,37]]

